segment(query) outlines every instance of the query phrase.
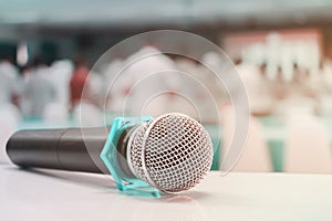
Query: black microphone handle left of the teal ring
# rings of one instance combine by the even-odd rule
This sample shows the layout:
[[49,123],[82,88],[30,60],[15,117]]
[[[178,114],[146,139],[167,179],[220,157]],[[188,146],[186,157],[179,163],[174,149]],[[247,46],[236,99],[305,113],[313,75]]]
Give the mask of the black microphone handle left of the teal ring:
[[110,173],[100,158],[107,137],[105,127],[19,130],[8,140],[7,154],[22,168]]

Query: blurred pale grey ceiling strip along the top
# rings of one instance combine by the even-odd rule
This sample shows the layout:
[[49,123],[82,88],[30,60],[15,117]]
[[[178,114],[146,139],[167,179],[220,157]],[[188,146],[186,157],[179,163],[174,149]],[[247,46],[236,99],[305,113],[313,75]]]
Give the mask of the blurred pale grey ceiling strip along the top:
[[331,0],[2,0],[0,24],[152,27],[332,21]]

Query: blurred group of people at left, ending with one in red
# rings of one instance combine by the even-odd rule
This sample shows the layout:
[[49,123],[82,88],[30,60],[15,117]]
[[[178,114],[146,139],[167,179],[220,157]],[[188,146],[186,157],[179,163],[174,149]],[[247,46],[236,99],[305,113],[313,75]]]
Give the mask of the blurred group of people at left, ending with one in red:
[[37,59],[20,70],[10,59],[3,59],[0,106],[11,104],[24,117],[45,117],[52,108],[68,114],[81,101],[87,75],[89,67],[82,59],[54,61],[51,65]]

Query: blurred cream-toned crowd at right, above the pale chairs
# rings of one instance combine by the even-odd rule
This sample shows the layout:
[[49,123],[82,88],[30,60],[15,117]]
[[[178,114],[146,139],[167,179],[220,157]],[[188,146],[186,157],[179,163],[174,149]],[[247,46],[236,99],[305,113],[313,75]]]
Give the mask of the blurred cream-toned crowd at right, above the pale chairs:
[[288,115],[293,112],[322,116],[332,114],[330,60],[322,61],[314,72],[293,63],[291,76],[279,66],[276,76],[271,77],[266,63],[258,66],[241,62],[237,70],[247,87],[253,115]]

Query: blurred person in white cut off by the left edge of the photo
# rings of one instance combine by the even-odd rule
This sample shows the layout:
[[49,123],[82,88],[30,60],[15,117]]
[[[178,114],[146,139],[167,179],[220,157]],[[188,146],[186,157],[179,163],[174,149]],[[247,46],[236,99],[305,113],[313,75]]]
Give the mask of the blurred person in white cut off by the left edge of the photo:
[[0,105],[10,104],[17,96],[19,72],[10,57],[0,61]]

